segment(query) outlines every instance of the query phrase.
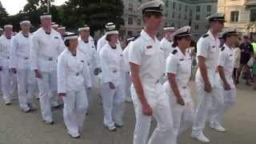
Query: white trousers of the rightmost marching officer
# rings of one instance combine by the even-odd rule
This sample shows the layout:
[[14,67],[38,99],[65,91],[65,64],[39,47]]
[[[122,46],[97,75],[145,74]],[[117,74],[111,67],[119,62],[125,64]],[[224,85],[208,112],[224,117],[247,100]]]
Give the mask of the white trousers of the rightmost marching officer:
[[227,110],[230,110],[230,108],[234,106],[235,90],[223,90],[220,88],[218,91],[222,95],[224,104],[218,113],[212,114],[211,122],[221,124],[223,114],[225,114]]

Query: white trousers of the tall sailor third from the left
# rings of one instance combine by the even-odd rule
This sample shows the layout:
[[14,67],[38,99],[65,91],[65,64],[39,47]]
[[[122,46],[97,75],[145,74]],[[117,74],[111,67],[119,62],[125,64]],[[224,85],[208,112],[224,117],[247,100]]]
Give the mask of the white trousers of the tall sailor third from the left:
[[39,100],[42,119],[53,121],[50,110],[51,96],[57,97],[57,71],[41,72],[42,78],[38,79]]

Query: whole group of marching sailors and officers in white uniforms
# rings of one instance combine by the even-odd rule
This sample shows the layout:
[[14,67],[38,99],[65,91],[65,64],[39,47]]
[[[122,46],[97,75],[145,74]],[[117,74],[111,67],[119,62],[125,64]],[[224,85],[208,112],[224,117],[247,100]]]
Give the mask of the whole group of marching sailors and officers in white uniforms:
[[[190,26],[178,30],[165,26],[161,42],[156,37],[162,6],[162,1],[154,0],[138,8],[145,26],[140,35],[127,39],[124,50],[113,22],[106,24],[96,46],[90,26],[80,27],[79,34],[66,32],[46,13],[40,17],[42,27],[33,34],[27,20],[20,22],[21,31],[15,36],[13,26],[4,26],[0,38],[3,102],[11,104],[10,95],[18,86],[20,109],[26,113],[35,110],[38,87],[43,122],[54,124],[51,109],[63,103],[67,133],[79,138],[97,76],[106,129],[122,127],[125,102],[133,102],[134,144],[176,144],[178,135],[190,127],[192,138],[210,142],[203,134],[206,121],[214,130],[226,131],[222,115],[235,102],[234,44],[238,33],[225,30],[221,46],[218,33],[225,16],[212,14],[207,18],[210,30],[198,40],[194,55]],[[195,59],[197,106],[190,94]],[[149,138],[152,117],[157,127]]]

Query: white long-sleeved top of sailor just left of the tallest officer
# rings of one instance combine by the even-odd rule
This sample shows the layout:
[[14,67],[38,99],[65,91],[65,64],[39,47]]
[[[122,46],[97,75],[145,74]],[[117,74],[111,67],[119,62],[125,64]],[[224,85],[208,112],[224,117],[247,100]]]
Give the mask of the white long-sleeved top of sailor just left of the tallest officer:
[[102,64],[102,82],[113,82],[115,86],[122,83],[122,66],[124,58],[122,50],[116,46],[113,49],[109,43],[102,47],[100,52],[100,62]]

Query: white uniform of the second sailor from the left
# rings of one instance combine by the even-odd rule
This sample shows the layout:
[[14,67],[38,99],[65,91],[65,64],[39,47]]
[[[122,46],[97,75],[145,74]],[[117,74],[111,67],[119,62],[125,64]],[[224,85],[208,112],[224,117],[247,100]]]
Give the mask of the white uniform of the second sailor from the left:
[[10,49],[10,68],[17,70],[18,100],[21,109],[28,109],[33,102],[35,86],[34,72],[30,68],[30,44],[32,35],[25,37],[22,32],[14,36]]

